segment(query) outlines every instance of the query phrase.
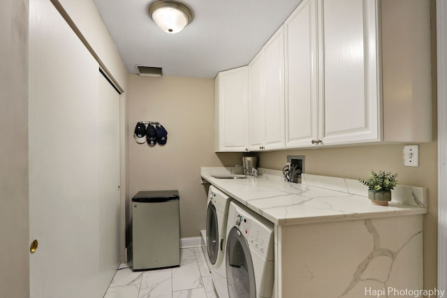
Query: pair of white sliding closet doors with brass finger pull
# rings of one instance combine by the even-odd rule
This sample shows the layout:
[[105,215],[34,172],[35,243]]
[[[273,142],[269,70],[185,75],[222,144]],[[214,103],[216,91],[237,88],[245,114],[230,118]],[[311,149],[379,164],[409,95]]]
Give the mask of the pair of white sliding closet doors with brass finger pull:
[[119,101],[103,81],[52,3],[30,1],[31,298],[103,297],[118,265]]

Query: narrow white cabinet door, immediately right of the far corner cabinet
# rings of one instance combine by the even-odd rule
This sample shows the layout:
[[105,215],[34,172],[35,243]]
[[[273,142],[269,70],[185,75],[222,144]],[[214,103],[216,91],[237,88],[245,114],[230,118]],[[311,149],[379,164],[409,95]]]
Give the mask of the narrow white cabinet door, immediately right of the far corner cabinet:
[[263,51],[249,64],[249,148],[259,151],[264,144]]

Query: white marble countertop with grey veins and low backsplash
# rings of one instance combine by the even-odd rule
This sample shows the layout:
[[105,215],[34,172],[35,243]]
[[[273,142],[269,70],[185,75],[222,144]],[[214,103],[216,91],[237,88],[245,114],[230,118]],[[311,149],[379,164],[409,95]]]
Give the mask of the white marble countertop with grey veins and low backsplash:
[[235,167],[202,167],[210,183],[277,225],[426,214],[427,190],[396,186],[388,207],[372,204],[367,187],[353,179],[302,174],[302,184],[287,182],[278,170],[258,169],[260,177],[217,179],[212,174],[242,174]]

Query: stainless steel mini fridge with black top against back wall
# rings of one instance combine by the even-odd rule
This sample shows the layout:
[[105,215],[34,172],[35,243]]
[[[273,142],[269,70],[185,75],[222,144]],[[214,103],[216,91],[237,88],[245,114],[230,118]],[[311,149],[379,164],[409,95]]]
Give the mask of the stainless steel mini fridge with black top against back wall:
[[179,192],[140,191],[132,198],[133,270],[180,265]]

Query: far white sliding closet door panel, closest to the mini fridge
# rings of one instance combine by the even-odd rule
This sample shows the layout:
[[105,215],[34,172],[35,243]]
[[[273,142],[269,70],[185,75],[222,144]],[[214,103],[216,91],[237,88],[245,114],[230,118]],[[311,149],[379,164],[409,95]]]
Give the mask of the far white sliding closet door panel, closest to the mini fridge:
[[99,75],[99,273],[108,284],[119,264],[119,94]]

